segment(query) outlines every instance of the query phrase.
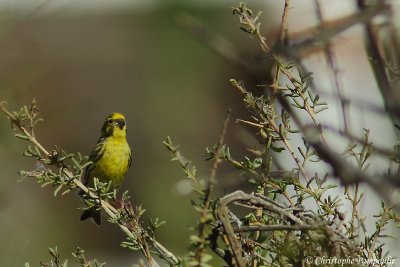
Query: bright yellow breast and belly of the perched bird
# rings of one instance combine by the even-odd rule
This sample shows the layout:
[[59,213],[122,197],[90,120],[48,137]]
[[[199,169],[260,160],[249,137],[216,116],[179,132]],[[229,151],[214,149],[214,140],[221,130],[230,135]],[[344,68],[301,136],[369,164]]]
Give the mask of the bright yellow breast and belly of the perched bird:
[[116,137],[109,138],[103,149],[102,157],[89,175],[101,182],[111,181],[112,187],[118,187],[128,170],[131,150],[125,138]]

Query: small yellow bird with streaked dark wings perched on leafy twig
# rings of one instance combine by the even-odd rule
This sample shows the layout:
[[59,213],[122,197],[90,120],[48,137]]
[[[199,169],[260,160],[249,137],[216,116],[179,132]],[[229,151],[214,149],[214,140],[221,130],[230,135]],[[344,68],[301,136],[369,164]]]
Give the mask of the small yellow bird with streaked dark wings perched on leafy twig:
[[[85,171],[84,184],[93,186],[93,178],[100,182],[111,182],[111,188],[118,188],[125,179],[126,172],[132,163],[132,154],[126,141],[126,120],[121,113],[111,113],[101,128],[101,136],[93,149],[90,164]],[[80,195],[84,192],[81,191]],[[101,213],[96,207],[86,209],[81,221],[92,218],[96,224],[101,223]]]

